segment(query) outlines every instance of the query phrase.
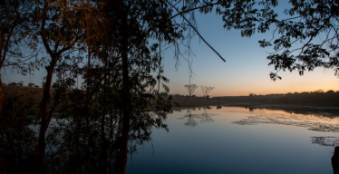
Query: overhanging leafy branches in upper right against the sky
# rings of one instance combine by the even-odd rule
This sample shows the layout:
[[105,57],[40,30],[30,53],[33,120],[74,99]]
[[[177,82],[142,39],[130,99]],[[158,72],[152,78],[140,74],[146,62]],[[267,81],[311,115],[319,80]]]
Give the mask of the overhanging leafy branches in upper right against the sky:
[[[260,4],[264,8],[254,9]],[[303,75],[316,67],[332,68],[339,76],[338,2],[291,0],[292,7],[284,11],[286,17],[278,17],[272,9],[276,5],[274,1],[266,5],[264,2],[236,3],[234,11],[226,10],[220,14],[223,14],[225,27],[241,29],[243,36],[274,28],[272,39],[259,41],[261,47],[273,46],[275,50],[267,56],[269,65],[274,65],[276,70],[276,73],[270,73],[272,80],[281,79],[277,75],[281,70],[298,71]]]

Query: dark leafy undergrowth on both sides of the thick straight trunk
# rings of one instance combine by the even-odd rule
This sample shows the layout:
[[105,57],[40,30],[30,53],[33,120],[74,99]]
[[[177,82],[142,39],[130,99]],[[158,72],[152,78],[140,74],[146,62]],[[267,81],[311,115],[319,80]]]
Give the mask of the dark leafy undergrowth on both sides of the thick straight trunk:
[[[155,113],[150,103],[155,100],[154,95],[147,92],[147,88],[155,84],[156,79],[150,75],[150,71],[157,68],[157,62],[151,61],[147,55],[144,59],[132,60],[131,64],[142,66],[130,71],[130,153],[135,152],[137,144],[151,140],[152,127],[167,129],[162,121],[170,111],[170,102],[162,99],[167,93],[161,95],[161,100],[156,105],[157,110],[162,112]],[[102,171],[103,166],[107,166],[108,172],[117,169],[121,144],[121,113],[124,107],[121,105],[121,63],[106,61],[108,62],[103,64],[93,62],[92,70],[95,71],[91,71],[90,76],[83,74],[85,78],[89,77],[90,88],[84,82],[82,89],[89,91],[73,89],[74,82],[69,80],[72,75],[66,72],[77,72],[77,66],[72,66],[72,63],[66,65],[67,62],[64,62],[61,65],[67,68],[57,68],[60,73],[58,81],[53,85],[57,89],[54,96],[59,96],[63,106],[58,127],[47,139],[48,169],[60,173],[95,173]]]

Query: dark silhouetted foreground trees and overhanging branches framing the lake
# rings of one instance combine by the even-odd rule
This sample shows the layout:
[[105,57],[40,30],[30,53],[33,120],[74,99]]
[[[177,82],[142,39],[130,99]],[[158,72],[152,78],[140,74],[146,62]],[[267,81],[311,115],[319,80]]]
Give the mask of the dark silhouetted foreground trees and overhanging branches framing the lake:
[[[276,51],[267,56],[272,80],[281,70],[302,75],[315,67],[339,75],[338,1],[289,3],[278,17],[277,0],[0,1],[0,172],[125,173],[128,155],[150,140],[152,128],[167,129],[162,121],[174,102],[163,50],[173,50],[177,65],[180,57],[190,60],[198,35],[225,61],[199,34],[195,12],[215,11],[242,36],[274,30],[272,40],[259,41]],[[7,92],[5,68],[23,75],[44,69],[42,92],[34,84],[31,92]],[[56,111],[58,124],[51,125]],[[34,131],[30,114],[37,115]]]

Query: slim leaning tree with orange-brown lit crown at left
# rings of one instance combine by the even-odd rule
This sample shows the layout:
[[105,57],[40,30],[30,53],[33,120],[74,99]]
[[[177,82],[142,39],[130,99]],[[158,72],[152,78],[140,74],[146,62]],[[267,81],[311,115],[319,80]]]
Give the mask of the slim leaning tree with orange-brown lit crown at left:
[[[75,4],[73,4],[75,3]],[[44,44],[44,49],[49,57],[45,58],[45,70],[47,75],[44,82],[44,94],[40,102],[40,130],[37,145],[37,162],[43,172],[43,161],[45,154],[45,133],[53,117],[55,106],[48,111],[47,103],[50,102],[50,89],[54,68],[62,60],[65,53],[74,51],[75,43],[82,41],[85,37],[85,26],[83,20],[86,19],[79,11],[70,8],[62,8],[58,4],[48,0],[44,1],[40,14],[40,36]],[[64,1],[63,6],[74,6],[76,2]],[[77,13],[78,12],[78,13]],[[89,16],[87,16],[89,17]],[[79,48],[77,48],[80,51]]]

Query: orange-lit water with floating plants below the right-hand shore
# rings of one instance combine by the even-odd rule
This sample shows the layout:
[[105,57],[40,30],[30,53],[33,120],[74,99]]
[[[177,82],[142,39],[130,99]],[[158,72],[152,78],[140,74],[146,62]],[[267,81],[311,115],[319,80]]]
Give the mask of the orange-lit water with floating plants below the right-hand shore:
[[[251,111],[251,108],[249,108],[249,111]],[[281,124],[306,128],[308,131],[339,132],[339,118],[335,112],[303,111],[303,114],[300,114],[300,112],[302,111],[256,111],[255,115],[247,116],[246,119],[232,123],[238,125]],[[334,136],[313,136],[311,141],[321,146],[339,146],[339,137]]]

